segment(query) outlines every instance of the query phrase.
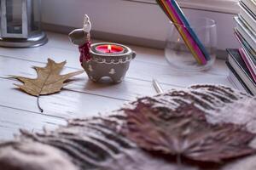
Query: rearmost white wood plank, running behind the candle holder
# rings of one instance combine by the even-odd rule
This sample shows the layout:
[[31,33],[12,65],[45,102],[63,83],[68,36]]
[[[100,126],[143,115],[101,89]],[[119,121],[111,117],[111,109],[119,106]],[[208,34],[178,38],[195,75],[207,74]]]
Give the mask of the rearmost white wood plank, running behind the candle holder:
[[[54,36],[55,35],[55,36]],[[52,36],[52,38],[51,38]],[[55,39],[56,37],[56,39]],[[54,42],[51,42],[54,41]],[[72,50],[67,46],[72,46]],[[57,48],[56,48],[57,47]],[[67,49],[66,49],[67,48]],[[170,66],[166,63],[164,51],[152,48],[141,48],[131,46],[137,52],[137,57],[131,62],[131,65],[163,65],[167,69]],[[55,59],[55,61],[62,61],[67,59],[67,66],[73,68],[80,68],[79,64],[79,50],[71,42],[69,42],[66,35],[52,33],[49,36],[49,44],[38,48],[0,48],[1,55],[13,56],[20,59],[29,59],[33,61],[45,62],[47,58]],[[152,65],[151,65],[152,66]],[[224,65],[223,60],[217,60],[210,71],[201,72],[207,74],[224,75],[228,69]],[[133,75],[134,76],[134,75]]]

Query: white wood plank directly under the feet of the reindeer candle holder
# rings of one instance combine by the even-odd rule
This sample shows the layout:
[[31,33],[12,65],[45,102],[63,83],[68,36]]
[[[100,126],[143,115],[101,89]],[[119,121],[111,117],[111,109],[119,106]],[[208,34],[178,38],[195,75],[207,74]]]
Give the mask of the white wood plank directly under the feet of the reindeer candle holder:
[[[31,62],[20,59],[3,58],[0,56],[0,77],[8,77],[8,75],[18,75],[21,77],[37,77],[36,71],[32,69],[32,65],[44,66],[45,64]],[[75,69],[65,68],[61,74],[76,71]],[[69,83],[65,88],[89,93],[107,96],[116,99],[132,100],[139,96],[155,94],[152,82],[140,81],[136,79],[126,78],[124,82],[119,84],[111,83],[95,83],[89,81],[85,72],[83,75],[75,77],[76,81]],[[19,83],[19,82],[18,82]],[[169,89],[172,86],[164,86]]]

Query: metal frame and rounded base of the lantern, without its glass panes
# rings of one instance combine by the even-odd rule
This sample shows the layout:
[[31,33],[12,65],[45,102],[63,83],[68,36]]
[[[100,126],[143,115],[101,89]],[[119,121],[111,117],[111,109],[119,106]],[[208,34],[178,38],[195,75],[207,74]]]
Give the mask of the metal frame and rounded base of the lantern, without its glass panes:
[[[32,30],[32,1],[33,0],[20,0],[21,3],[21,33],[9,33],[7,21],[7,1],[0,0],[0,46],[3,47],[38,47],[48,41],[45,33],[41,31],[41,17],[39,19],[38,30]],[[16,0],[17,1],[17,0]],[[38,0],[40,3],[40,0]],[[38,8],[40,10],[40,8]],[[41,14],[41,11],[38,11]]]

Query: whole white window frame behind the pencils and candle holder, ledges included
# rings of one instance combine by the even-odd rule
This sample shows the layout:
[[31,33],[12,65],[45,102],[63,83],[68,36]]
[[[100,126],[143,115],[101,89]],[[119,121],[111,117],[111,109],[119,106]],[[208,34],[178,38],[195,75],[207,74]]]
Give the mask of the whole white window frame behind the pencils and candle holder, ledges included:
[[[238,47],[233,34],[236,1],[177,0],[185,14],[216,21],[222,50]],[[81,27],[84,14],[90,15],[96,38],[163,47],[168,31],[168,20],[154,0],[44,0],[42,7],[44,26],[51,31]]]

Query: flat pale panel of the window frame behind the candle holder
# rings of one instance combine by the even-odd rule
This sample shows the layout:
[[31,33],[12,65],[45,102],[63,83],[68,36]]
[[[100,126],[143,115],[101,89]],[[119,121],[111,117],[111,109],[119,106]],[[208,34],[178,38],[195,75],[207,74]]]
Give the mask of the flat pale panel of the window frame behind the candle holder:
[[[93,30],[159,41],[166,38],[168,20],[154,4],[121,0],[43,0],[43,22],[81,27],[83,15],[89,14]],[[237,48],[233,34],[234,14],[184,8],[186,15],[206,16],[216,20],[218,48]]]

